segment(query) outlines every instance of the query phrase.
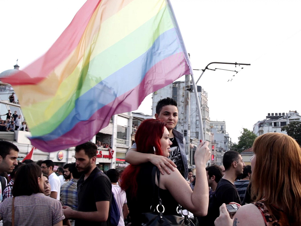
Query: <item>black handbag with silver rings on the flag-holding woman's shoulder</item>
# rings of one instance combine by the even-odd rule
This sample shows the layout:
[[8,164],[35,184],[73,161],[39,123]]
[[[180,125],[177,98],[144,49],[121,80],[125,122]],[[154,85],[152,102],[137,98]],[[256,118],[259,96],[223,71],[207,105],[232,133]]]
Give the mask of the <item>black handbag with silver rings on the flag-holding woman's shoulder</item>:
[[[142,213],[142,226],[156,226],[156,225],[183,225],[183,226],[195,226],[194,222],[191,221],[190,218],[188,218],[188,211],[182,211],[182,214],[185,217],[178,216],[178,215],[163,215],[165,208],[162,205],[162,199],[160,198],[160,189],[159,189],[159,179],[160,179],[160,171],[156,166],[154,166],[152,171],[152,182],[153,187],[155,190],[155,177],[157,173],[157,179],[158,179],[158,197],[154,197],[153,195],[153,203],[155,199],[159,199],[159,204],[155,207],[153,205],[151,206],[151,212],[150,213]],[[157,211],[157,212],[156,212]],[[178,212],[178,208],[177,208]]]

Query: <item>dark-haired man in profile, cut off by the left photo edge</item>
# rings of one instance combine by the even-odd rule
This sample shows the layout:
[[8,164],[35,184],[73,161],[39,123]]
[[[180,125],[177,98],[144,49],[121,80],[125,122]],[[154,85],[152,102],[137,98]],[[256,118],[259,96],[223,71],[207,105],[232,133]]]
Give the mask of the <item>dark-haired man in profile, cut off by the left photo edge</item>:
[[[3,172],[11,173],[15,166],[18,165],[19,149],[13,143],[0,140],[0,174]],[[5,177],[0,177],[0,202],[2,202],[2,192],[7,186]]]

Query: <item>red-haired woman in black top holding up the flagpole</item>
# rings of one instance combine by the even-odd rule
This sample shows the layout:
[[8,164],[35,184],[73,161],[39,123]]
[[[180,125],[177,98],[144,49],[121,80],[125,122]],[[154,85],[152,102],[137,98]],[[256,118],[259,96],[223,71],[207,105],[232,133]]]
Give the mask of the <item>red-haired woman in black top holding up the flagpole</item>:
[[[157,119],[148,119],[141,123],[135,135],[135,142],[138,152],[165,157],[169,156],[172,144],[165,123]],[[177,214],[178,204],[197,216],[207,214],[209,193],[205,168],[210,158],[208,145],[208,142],[201,142],[194,155],[196,183],[193,191],[177,169],[170,174],[160,175],[159,192],[165,207],[163,215]],[[158,194],[157,176],[155,190],[152,183],[153,168],[154,165],[148,162],[129,165],[123,171],[120,187],[126,191],[132,226],[141,225],[141,214],[150,212],[153,196]]]

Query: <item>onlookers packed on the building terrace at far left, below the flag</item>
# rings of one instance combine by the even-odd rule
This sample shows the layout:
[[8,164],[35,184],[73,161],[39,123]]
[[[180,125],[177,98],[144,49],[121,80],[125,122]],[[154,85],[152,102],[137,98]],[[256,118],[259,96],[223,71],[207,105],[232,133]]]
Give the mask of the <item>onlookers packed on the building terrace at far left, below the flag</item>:
[[11,110],[8,110],[8,113],[4,115],[6,115],[6,120],[0,121],[1,132],[14,132],[15,130],[29,131],[26,121],[23,121],[22,116],[18,115],[17,111],[12,114]]

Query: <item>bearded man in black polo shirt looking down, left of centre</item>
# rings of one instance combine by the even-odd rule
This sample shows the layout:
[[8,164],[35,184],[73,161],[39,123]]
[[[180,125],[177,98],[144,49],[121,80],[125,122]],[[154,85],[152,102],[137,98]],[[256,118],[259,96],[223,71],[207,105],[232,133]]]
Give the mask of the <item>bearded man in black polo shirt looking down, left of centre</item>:
[[66,218],[75,218],[75,225],[109,225],[112,185],[96,166],[97,146],[86,142],[75,147],[76,168],[83,175],[77,181],[77,211],[64,206]]

